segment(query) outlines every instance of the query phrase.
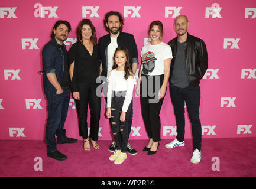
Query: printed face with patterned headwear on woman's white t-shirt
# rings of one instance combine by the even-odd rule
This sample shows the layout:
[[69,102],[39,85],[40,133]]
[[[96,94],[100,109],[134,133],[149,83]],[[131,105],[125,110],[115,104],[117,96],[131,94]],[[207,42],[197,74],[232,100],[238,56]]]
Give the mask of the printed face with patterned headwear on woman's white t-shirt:
[[155,68],[155,54],[153,52],[148,51],[147,53],[143,54],[142,56],[142,73],[147,75],[149,72],[152,72]]

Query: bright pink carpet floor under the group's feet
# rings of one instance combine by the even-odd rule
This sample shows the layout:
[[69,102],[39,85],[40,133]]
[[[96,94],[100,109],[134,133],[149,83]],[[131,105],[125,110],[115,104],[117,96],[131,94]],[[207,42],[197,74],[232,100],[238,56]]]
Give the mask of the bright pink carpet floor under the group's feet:
[[[219,138],[202,140],[202,161],[190,163],[192,140],[185,146],[164,148],[161,140],[157,154],[142,149],[146,140],[130,141],[137,155],[129,155],[121,165],[108,158],[111,141],[99,141],[100,149],[86,152],[82,141],[57,145],[66,161],[48,158],[43,141],[0,141],[0,177],[256,177],[256,138]],[[43,171],[35,171],[35,157],[43,160]],[[219,158],[219,171],[212,170]],[[213,161],[212,161],[213,159]],[[215,166],[216,167],[216,166]]]

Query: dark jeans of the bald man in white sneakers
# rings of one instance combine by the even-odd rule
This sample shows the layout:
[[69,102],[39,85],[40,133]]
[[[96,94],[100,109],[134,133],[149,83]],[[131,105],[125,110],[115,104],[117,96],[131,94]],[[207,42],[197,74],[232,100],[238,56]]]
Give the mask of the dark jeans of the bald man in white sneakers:
[[192,125],[193,150],[201,150],[202,128],[199,119],[200,106],[200,87],[186,87],[184,89],[171,85],[170,86],[171,102],[174,107],[176,116],[177,139],[184,141],[185,134],[185,110],[184,102],[186,102],[187,112]]

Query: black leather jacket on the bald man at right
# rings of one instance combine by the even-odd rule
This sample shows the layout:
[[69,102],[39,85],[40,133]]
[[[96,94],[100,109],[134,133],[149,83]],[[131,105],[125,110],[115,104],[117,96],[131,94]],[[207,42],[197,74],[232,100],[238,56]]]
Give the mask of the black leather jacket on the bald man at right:
[[[171,76],[173,75],[173,67],[177,53],[177,37],[169,41],[173,59],[171,60],[171,69],[170,69],[170,84]],[[206,50],[206,45],[200,38],[197,38],[193,35],[187,34],[187,40],[185,43],[185,61],[187,76],[189,78],[189,86],[195,87],[200,83],[208,68],[208,54]]]

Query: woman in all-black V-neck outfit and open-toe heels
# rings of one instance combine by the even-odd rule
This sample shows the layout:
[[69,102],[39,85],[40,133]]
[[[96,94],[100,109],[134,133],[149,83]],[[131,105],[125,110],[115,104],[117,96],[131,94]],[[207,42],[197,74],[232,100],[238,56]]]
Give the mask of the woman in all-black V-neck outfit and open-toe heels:
[[[96,96],[96,78],[100,74],[100,61],[95,27],[89,19],[80,21],[77,30],[77,42],[69,50],[70,87],[76,99],[79,134],[83,137],[83,148],[90,151],[99,149],[98,132],[101,113],[101,96]],[[90,136],[87,128],[88,103],[90,107]]]

